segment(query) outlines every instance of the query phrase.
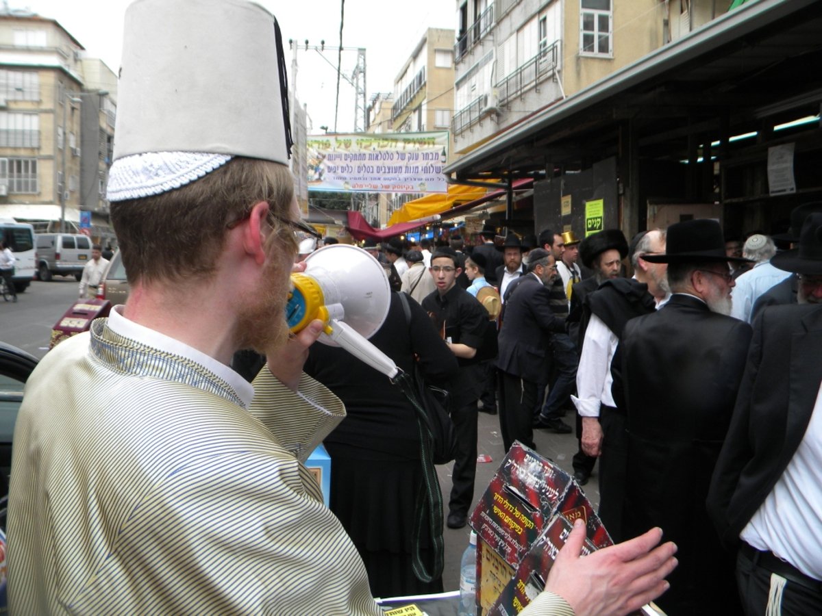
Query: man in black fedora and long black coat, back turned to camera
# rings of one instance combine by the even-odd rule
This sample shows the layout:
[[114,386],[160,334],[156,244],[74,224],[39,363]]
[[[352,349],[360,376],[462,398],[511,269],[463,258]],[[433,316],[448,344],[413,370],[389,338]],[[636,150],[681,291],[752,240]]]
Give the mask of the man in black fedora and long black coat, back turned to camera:
[[612,361],[612,392],[626,411],[626,536],[659,526],[679,546],[667,614],[738,614],[733,557],[705,508],[713,467],[745,368],[750,325],[728,314],[733,279],[722,228],[709,219],[672,224],[666,253],[672,296],[630,319]]

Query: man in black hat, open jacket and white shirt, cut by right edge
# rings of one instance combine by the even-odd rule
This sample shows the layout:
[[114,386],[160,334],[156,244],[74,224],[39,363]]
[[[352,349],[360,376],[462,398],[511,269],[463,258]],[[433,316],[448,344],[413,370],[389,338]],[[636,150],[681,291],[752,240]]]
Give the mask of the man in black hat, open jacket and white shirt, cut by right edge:
[[822,614],[822,213],[772,262],[798,274],[799,305],[754,320],[708,509],[722,540],[739,548],[746,614]]

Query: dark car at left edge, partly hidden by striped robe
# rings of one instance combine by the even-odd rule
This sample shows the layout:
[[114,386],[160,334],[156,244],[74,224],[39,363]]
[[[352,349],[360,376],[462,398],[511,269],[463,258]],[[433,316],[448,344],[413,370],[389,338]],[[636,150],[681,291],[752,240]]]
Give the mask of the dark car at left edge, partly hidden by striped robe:
[[0,342],[0,496],[8,494],[14,425],[23,402],[23,385],[37,361],[35,356]]

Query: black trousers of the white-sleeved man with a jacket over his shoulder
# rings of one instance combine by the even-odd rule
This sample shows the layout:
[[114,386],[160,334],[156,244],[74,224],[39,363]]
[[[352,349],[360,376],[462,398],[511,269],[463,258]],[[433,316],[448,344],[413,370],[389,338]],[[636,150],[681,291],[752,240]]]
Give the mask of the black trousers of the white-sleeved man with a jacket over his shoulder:
[[599,409],[603,447],[599,455],[599,517],[615,543],[629,537],[622,531],[622,506],[626,489],[628,434],[626,416],[613,407]]

